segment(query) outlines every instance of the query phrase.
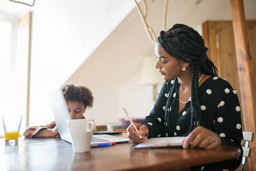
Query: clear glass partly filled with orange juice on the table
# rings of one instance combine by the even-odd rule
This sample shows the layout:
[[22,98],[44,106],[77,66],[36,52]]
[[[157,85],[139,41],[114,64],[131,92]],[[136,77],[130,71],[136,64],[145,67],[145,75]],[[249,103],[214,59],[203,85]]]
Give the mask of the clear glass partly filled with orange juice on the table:
[[3,127],[5,142],[17,142],[22,115],[3,115]]

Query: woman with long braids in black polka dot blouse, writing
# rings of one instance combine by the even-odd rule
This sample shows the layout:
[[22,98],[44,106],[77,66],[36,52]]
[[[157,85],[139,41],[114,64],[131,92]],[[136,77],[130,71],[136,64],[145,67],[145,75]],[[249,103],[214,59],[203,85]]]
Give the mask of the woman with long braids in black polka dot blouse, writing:
[[[218,145],[241,148],[237,91],[217,76],[207,50],[200,34],[186,25],[175,24],[167,32],[160,32],[155,46],[155,67],[166,81],[149,115],[141,123],[135,123],[139,133],[131,125],[127,128],[133,143],[153,137],[186,136],[183,148],[213,149]],[[234,170],[240,163],[241,156],[191,170]]]

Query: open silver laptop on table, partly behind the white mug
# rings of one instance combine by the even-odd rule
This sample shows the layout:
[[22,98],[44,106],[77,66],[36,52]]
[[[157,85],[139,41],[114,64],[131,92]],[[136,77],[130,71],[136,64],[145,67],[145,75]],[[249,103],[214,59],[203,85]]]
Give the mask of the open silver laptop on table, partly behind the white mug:
[[[59,130],[60,138],[69,143],[72,143],[72,138],[69,132],[67,119],[71,119],[68,107],[60,88],[48,93],[48,98],[52,106],[53,116]],[[108,134],[93,135],[91,144],[111,143],[111,142],[128,142],[129,138],[111,136]]]

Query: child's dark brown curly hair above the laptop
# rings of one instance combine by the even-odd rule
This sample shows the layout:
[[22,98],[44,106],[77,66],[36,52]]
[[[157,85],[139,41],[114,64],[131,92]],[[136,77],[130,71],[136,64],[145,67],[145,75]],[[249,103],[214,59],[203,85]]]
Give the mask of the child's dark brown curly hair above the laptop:
[[66,84],[62,87],[62,92],[66,101],[82,102],[86,108],[93,107],[94,97],[91,91],[85,86]]

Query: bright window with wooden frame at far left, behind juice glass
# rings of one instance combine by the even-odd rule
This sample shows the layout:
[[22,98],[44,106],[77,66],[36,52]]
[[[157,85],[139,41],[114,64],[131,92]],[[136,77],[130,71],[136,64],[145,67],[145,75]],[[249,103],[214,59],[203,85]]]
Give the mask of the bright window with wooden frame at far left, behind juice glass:
[[30,25],[30,12],[19,19],[0,20],[0,123],[2,115],[21,114],[20,134],[28,125]]

